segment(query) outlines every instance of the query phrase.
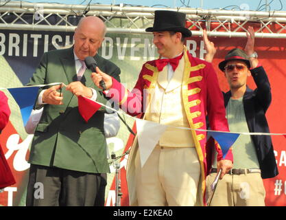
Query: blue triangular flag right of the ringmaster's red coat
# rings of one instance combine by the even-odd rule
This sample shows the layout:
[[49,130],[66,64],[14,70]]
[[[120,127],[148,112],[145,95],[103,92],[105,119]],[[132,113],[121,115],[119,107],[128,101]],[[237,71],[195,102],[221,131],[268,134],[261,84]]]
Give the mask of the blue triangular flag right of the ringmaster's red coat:
[[224,132],[214,132],[208,131],[210,135],[219,143],[222,148],[222,158],[226,157],[230,146],[237,140],[239,133],[224,133]]

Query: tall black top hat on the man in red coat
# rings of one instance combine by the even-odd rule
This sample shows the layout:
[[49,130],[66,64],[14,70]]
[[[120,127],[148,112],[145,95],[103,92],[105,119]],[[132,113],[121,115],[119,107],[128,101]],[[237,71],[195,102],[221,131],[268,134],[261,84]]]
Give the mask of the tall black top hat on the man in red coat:
[[173,31],[181,32],[184,37],[191,36],[191,31],[184,28],[186,14],[167,10],[156,10],[152,28],[146,28],[146,32]]

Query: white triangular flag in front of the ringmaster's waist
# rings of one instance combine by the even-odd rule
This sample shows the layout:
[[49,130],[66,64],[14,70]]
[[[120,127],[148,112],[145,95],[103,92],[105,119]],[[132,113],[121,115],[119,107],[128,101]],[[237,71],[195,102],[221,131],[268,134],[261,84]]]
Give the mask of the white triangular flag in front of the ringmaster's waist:
[[141,167],[144,166],[166,128],[164,124],[136,118]]

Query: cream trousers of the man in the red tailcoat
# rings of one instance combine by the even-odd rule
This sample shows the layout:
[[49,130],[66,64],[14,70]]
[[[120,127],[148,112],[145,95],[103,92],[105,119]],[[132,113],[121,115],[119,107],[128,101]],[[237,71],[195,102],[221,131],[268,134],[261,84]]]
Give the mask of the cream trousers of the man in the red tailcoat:
[[141,168],[135,159],[136,194],[139,206],[194,206],[200,162],[194,147],[156,146]]

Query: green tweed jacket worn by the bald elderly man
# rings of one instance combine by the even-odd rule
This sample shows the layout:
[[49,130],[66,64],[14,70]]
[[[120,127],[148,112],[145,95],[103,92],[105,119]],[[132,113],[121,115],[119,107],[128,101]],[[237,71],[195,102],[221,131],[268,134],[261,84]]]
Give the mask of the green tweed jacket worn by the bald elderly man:
[[[119,67],[99,55],[94,58],[99,69],[119,80]],[[75,59],[71,47],[46,52],[27,85],[68,85],[76,80]],[[91,70],[86,69],[81,82],[97,91],[97,101],[107,102],[102,91],[91,80]],[[43,115],[32,141],[29,163],[86,173],[108,173],[104,137],[105,109],[99,109],[86,123],[78,111],[78,98],[64,87],[62,94],[64,104],[44,105]]]

